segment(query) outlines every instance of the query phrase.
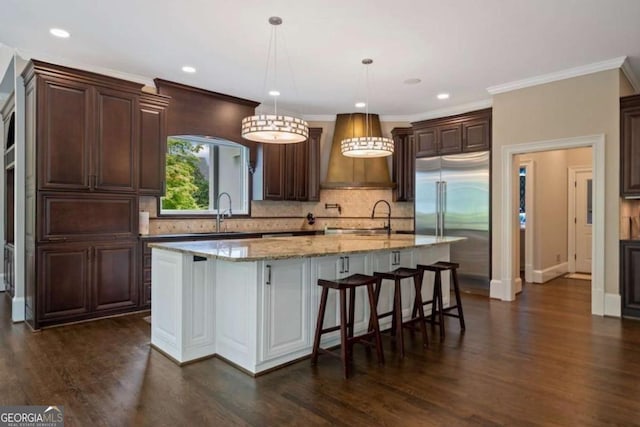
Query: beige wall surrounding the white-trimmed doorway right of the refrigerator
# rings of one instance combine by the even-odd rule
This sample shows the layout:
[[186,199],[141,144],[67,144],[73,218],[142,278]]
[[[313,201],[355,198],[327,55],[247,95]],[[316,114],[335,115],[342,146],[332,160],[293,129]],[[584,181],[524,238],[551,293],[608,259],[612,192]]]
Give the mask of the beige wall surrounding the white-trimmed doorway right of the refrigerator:
[[[505,179],[499,155],[502,148],[519,143],[604,134],[605,291],[619,294],[620,84],[619,70],[609,70],[494,96],[493,279],[502,279],[499,277],[502,263],[513,263],[515,272],[518,262],[513,256],[513,259],[502,259],[503,200],[500,190]],[[557,185],[566,186],[564,182]]]

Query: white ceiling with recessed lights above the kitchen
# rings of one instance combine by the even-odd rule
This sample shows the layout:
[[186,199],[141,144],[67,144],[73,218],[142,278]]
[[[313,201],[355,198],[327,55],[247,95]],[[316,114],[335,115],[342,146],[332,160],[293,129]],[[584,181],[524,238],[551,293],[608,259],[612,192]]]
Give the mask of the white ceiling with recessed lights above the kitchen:
[[[612,58],[627,56],[640,75],[639,0],[3,0],[0,43],[270,102],[263,81],[273,15],[284,20],[279,103],[307,117],[355,110],[366,96],[366,57],[374,60],[371,112],[408,119],[479,105],[491,86]],[[71,38],[52,37],[52,27]],[[197,73],[183,73],[186,64]],[[422,82],[404,84],[409,78]],[[440,92],[451,98],[436,99]]]

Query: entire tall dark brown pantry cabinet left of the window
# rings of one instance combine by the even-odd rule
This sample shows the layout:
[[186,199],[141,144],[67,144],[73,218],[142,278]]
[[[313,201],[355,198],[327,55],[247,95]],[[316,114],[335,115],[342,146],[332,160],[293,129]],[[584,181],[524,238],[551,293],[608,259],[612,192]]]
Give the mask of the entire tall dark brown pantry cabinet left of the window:
[[39,61],[23,77],[26,321],[134,311],[142,85]]

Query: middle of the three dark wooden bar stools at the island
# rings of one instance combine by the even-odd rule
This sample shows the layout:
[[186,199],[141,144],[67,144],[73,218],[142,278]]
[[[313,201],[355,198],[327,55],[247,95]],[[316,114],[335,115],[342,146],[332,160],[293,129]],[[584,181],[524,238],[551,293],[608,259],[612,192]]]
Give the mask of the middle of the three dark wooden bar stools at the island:
[[[373,275],[380,279],[379,284],[375,289],[375,297],[376,297],[376,307],[378,305],[378,300],[380,298],[380,288],[382,287],[382,280],[393,280],[394,282],[394,292],[393,292],[393,310],[388,311],[386,313],[379,313],[378,319],[383,317],[392,316],[391,317],[391,333],[396,337],[396,349],[400,353],[400,357],[404,357],[404,337],[402,335],[403,327],[412,327],[414,323],[418,323],[420,327],[420,331],[422,332],[422,342],[423,346],[427,347],[429,344],[429,339],[427,336],[427,328],[425,326],[426,318],[424,316],[424,309],[422,303],[422,294],[420,289],[422,288],[422,270],[415,268],[405,268],[400,267],[396,268],[393,271],[388,273],[375,272]],[[411,279],[413,278],[413,286],[415,287],[416,296],[414,301],[414,307],[417,307],[417,310],[411,315],[411,319],[402,321],[402,292],[400,283],[403,279]],[[417,316],[416,316],[417,311]],[[413,330],[413,327],[411,328]]]

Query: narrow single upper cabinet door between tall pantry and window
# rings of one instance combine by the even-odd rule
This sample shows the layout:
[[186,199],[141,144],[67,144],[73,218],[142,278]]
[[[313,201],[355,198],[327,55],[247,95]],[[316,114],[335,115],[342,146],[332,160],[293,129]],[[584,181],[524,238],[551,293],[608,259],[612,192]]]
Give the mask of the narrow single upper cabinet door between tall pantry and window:
[[161,196],[165,182],[167,151],[166,111],[141,100],[140,102],[140,194]]

